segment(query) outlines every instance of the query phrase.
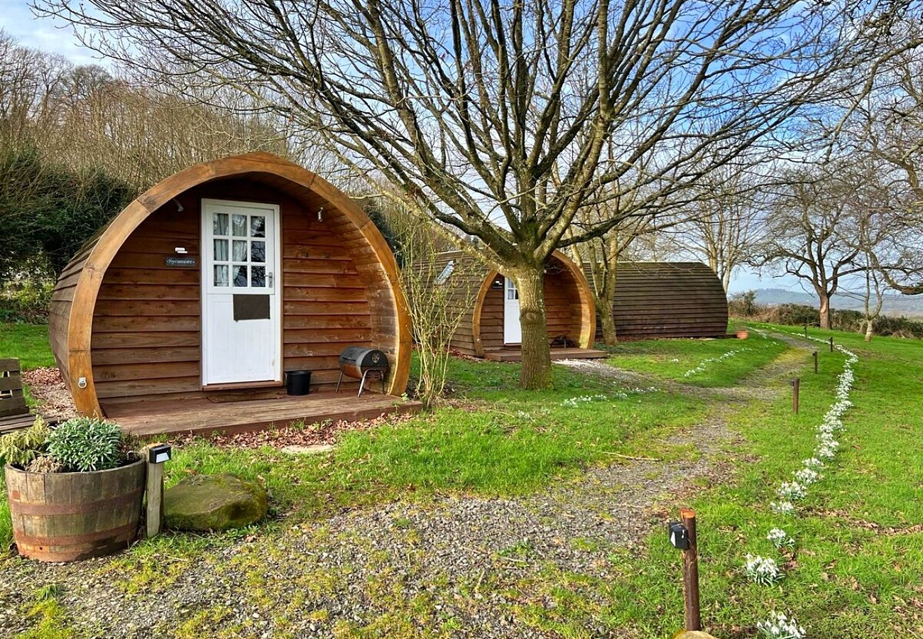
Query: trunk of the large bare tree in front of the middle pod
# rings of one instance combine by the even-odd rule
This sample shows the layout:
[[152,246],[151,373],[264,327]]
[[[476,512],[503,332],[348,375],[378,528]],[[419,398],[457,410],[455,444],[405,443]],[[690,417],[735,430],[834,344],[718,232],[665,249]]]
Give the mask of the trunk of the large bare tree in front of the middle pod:
[[545,268],[525,267],[512,272],[520,295],[522,369],[524,389],[551,388],[551,349],[545,319]]

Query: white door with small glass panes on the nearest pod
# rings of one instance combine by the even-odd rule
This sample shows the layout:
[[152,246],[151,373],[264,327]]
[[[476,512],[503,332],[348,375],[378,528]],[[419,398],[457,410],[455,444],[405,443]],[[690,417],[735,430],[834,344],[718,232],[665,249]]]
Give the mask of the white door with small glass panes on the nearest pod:
[[202,385],[282,381],[279,207],[202,200]]

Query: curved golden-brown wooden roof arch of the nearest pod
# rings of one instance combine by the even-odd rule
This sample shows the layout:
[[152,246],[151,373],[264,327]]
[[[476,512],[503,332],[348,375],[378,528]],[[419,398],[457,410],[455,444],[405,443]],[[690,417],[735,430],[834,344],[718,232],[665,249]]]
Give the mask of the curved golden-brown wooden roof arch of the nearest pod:
[[[52,295],[49,333],[54,358],[79,412],[102,416],[93,383],[90,338],[102,280],[119,248],[139,224],[172,199],[191,188],[234,177],[258,179],[294,198],[320,198],[330,205],[325,211],[337,217],[338,231],[348,240],[356,269],[363,275],[366,295],[377,302],[378,324],[387,337],[376,345],[393,357],[388,392],[404,392],[410,375],[410,317],[397,263],[384,237],[352,199],[320,176],[270,153],[255,152],[196,164],[150,187],[116,215],[62,271]],[[77,383],[79,378],[86,380],[82,388]]]

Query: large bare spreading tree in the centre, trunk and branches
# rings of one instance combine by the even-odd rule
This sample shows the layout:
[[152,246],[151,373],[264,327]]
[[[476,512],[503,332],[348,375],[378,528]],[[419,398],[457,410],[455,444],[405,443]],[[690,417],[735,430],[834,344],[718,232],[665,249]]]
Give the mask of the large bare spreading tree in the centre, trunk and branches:
[[[359,175],[484,241],[520,292],[521,384],[551,383],[545,260],[644,158],[649,201],[770,133],[905,6],[642,0],[37,0],[178,86],[234,87],[318,130]],[[887,13],[890,12],[890,13]],[[616,145],[612,159],[607,140]],[[556,175],[560,178],[557,179]],[[669,175],[671,179],[663,179]],[[633,181],[632,181],[633,182]]]

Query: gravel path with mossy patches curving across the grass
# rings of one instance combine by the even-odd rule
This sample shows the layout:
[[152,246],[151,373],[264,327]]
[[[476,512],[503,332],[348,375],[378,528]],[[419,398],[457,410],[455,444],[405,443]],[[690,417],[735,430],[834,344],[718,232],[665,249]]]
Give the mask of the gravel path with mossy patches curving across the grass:
[[[0,636],[36,622],[23,610],[48,584],[62,587],[59,602],[78,636],[332,637],[358,629],[386,637],[558,636],[514,621],[515,610],[553,606],[543,585],[561,575],[614,578],[613,552],[637,548],[693,482],[726,478],[736,437],[727,416],[781,391],[801,356],[789,352],[762,368],[741,384],[748,392],[721,389],[728,401],[665,442],[701,452],[689,459],[615,457],[524,498],[389,503],[262,532],[194,559],[134,556],[122,560],[133,562],[128,567],[8,559],[0,564]],[[585,361],[575,368],[626,374]],[[602,626],[587,632],[615,636]]]

